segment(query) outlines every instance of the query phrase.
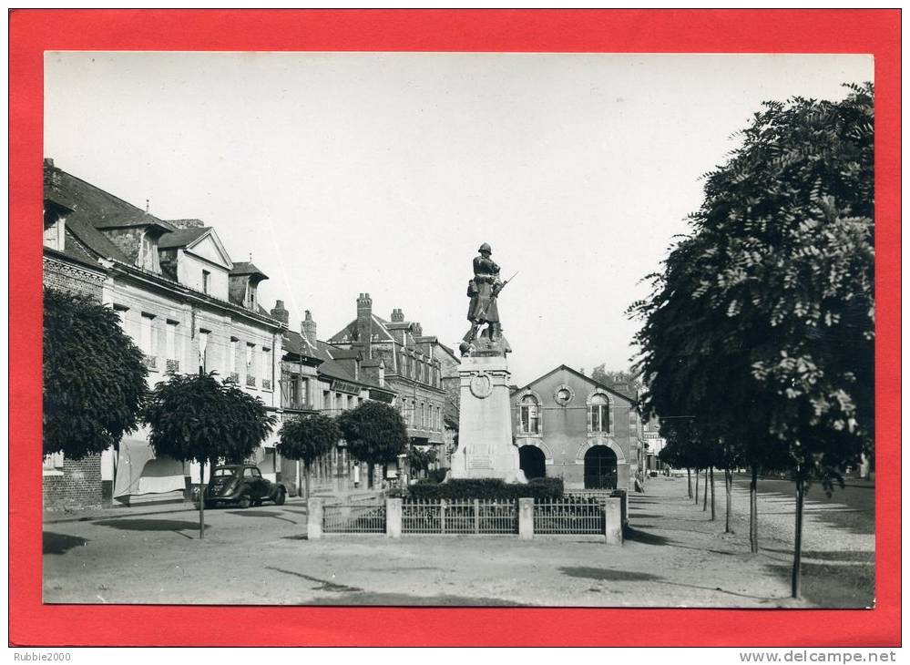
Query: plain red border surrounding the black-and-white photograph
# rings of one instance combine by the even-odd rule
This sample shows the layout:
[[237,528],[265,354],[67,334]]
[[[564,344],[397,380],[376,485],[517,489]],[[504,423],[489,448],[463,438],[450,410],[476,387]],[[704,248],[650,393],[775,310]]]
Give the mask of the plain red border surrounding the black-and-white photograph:
[[[10,35],[10,635],[15,645],[900,643],[900,10],[14,10]],[[45,50],[867,53],[875,57],[874,610],[41,604]],[[238,627],[242,626],[242,630]]]

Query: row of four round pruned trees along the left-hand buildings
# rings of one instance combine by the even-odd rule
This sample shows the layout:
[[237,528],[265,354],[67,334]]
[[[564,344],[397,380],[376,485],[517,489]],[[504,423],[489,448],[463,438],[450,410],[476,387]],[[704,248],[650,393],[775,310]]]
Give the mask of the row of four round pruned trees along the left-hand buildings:
[[[123,333],[118,314],[85,297],[44,294],[43,454],[79,459],[118,449],[123,435],[145,423],[158,456],[199,463],[249,458],[276,425],[261,399],[214,373],[173,374],[151,391],[142,352]],[[312,465],[341,438],[355,459],[373,466],[394,462],[407,449],[404,419],[391,406],[364,402],[336,418],[305,414],[279,430],[281,456],[300,460],[310,495]],[[424,455],[414,455],[418,465]],[[204,502],[199,501],[199,537]]]

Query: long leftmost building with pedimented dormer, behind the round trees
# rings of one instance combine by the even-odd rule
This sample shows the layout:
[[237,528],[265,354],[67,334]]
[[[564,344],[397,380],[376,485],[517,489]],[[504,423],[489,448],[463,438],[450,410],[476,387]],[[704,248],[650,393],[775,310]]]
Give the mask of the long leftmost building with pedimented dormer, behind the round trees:
[[[215,230],[201,221],[160,220],[50,160],[45,199],[69,210],[57,218],[64,238],[104,268],[101,302],[118,312],[145,354],[149,388],[169,373],[201,369],[234,380],[278,412],[284,325],[257,301],[257,287],[267,279],[261,271],[231,261]],[[53,235],[46,222],[46,239]],[[272,434],[253,459],[273,480],[280,467],[275,443]],[[199,482],[195,463],[157,458],[145,428],[102,455],[100,473],[114,500],[128,505],[178,500]]]

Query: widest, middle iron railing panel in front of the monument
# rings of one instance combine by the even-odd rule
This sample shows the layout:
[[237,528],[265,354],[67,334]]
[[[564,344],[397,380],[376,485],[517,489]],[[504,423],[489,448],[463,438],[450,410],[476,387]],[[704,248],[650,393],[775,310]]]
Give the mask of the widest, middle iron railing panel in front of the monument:
[[405,500],[402,533],[517,534],[517,503],[493,499]]

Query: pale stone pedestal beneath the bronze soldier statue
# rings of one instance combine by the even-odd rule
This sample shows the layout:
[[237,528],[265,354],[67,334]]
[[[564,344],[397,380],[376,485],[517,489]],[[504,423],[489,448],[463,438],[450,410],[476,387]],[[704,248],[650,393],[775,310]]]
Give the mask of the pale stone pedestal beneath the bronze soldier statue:
[[458,448],[450,478],[501,478],[526,483],[512,442],[511,374],[502,350],[476,351],[461,361]]

